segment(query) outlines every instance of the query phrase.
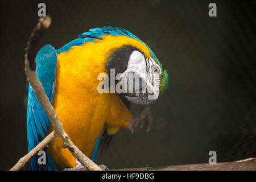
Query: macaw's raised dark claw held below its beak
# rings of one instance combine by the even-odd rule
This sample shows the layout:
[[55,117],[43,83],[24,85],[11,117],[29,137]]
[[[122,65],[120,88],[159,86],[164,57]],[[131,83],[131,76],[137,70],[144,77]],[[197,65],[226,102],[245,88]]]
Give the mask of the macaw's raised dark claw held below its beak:
[[131,133],[134,133],[143,129],[144,119],[146,119],[145,130],[146,132],[148,132],[150,131],[150,127],[153,123],[153,116],[150,113],[149,106],[142,106],[137,117],[130,119],[128,127],[129,127],[129,130],[131,130]]

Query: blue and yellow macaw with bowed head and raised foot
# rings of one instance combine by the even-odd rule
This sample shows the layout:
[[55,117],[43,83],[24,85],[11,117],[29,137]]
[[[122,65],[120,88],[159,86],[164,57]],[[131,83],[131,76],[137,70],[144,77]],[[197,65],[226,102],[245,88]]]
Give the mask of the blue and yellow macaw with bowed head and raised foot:
[[[99,93],[100,73],[137,73],[157,99],[168,86],[167,71],[151,49],[123,28],[92,28],[77,39],[55,50],[44,46],[36,55],[36,75],[72,142],[96,161],[120,127],[129,129],[131,103],[149,105],[148,94]],[[118,82],[118,81],[116,81]],[[115,83],[116,84],[116,83]],[[27,140],[31,151],[53,127],[31,85],[27,96]],[[44,170],[75,168],[80,165],[61,138],[47,149]],[[30,169],[39,169],[38,156]]]

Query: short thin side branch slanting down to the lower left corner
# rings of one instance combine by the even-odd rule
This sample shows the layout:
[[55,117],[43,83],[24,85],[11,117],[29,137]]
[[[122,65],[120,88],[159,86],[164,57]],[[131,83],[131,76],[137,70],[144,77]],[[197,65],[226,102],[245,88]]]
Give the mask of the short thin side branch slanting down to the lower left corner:
[[44,147],[47,146],[48,143],[50,143],[54,138],[54,131],[47,135],[46,138],[42,140],[35,148],[33,148],[27,155],[23,156],[23,158],[20,158],[18,163],[14,165],[10,169],[10,171],[18,171],[20,168],[22,168],[38,151],[43,150]]

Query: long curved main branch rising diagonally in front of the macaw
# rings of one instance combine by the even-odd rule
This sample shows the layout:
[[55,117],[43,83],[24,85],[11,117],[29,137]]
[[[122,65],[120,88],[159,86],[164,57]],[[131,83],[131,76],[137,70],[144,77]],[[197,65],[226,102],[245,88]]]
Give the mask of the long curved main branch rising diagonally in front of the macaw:
[[[89,170],[93,171],[102,171],[100,167],[97,166],[92,160],[85,156],[79,148],[73,144],[69,139],[68,134],[65,133],[63,125],[60,122],[55,109],[53,108],[51,102],[49,101],[46,93],[44,92],[43,85],[36,76],[35,73],[35,56],[37,52],[37,47],[39,40],[43,35],[43,32],[46,31],[51,25],[51,18],[49,16],[39,18],[38,24],[32,31],[30,38],[28,39],[28,47],[26,48],[27,53],[25,55],[25,73],[27,80],[30,82],[30,85],[34,89],[36,97],[38,98],[40,104],[42,105],[46,115],[51,121],[51,125],[54,127],[55,137],[60,137],[63,139],[63,146],[67,147],[69,151],[79,160],[79,162]],[[32,157],[32,156],[31,156]],[[29,160],[29,159],[28,159]],[[14,168],[12,168],[14,169]]]

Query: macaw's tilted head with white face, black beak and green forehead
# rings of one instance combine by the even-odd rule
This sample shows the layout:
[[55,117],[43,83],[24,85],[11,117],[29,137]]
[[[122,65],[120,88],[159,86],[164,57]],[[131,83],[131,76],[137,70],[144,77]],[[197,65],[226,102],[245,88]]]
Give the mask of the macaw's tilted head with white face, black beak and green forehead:
[[[135,35],[121,28],[114,29],[118,35],[112,36],[125,35],[130,40],[109,51],[106,68],[109,73],[110,69],[115,69],[115,76],[118,77],[119,85],[122,85],[126,100],[136,105],[150,105],[166,92],[167,71],[163,70],[151,49]],[[119,40],[122,42],[123,39]]]

